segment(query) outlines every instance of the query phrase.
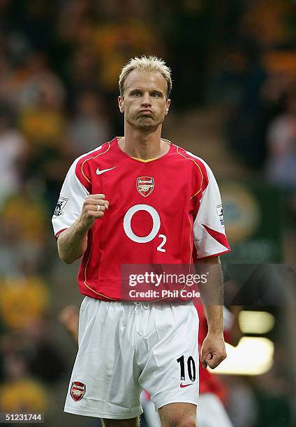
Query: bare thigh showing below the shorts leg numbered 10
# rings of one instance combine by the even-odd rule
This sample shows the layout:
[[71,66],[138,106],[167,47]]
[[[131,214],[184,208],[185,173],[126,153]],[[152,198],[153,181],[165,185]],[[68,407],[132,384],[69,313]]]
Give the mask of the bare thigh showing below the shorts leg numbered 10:
[[158,409],[161,427],[196,426],[196,406],[193,403],[170,403]]

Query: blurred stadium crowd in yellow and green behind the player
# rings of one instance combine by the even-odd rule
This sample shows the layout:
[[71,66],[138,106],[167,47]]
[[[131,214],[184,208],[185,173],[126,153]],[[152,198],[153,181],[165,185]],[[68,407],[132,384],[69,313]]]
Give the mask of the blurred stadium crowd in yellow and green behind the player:
[[221,186],[233,249],[223,262],[290,266],[269,304],[246,287],[233,302],[228,288],[232,304],[271,315],[247,335],[274,345],[260,375],[223,375],[228,412],[235,427],[296,425],[295,48],[292,0],[0,1],[0,412],[97,425],[62,412],[76,348],[59,313],[82,298],[50,218],[73,159],[122,134],[121,66],[156,54],[173,78],[163,136]]

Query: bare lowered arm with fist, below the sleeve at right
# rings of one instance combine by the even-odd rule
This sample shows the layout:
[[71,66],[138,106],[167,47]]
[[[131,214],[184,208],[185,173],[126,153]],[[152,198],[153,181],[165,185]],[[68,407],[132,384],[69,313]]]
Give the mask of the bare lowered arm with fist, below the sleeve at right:
[[203,368],[209,366],[214,369],[226,357],[223,338],[223,276],[219,256],[198,260],[198,272],[207,276],[207,281],[198,285],[208,325],[200,361]]

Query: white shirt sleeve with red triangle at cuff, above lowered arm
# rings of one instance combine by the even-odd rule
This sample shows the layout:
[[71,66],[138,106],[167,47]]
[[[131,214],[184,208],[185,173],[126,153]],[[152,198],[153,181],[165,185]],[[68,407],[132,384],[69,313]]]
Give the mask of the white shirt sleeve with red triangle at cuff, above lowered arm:
[[212,257],[228,252],[223,208],[218,184],[212,170],[203,162],[209,182],[202,193],[200,207],[193,223],[193,239],[198,258]]

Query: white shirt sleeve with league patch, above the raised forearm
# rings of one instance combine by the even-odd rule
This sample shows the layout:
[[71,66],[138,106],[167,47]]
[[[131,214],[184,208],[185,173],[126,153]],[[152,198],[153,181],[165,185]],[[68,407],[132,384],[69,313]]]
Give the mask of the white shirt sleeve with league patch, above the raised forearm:
[[61,193],[57,202],[57,207],[54,209],[52,216],[52,225],[54,227],[54,235],[70,227],[74,221],[80,216],[82,204],[89,192],[82,185],[75,174],[77,160],[68,170]]

